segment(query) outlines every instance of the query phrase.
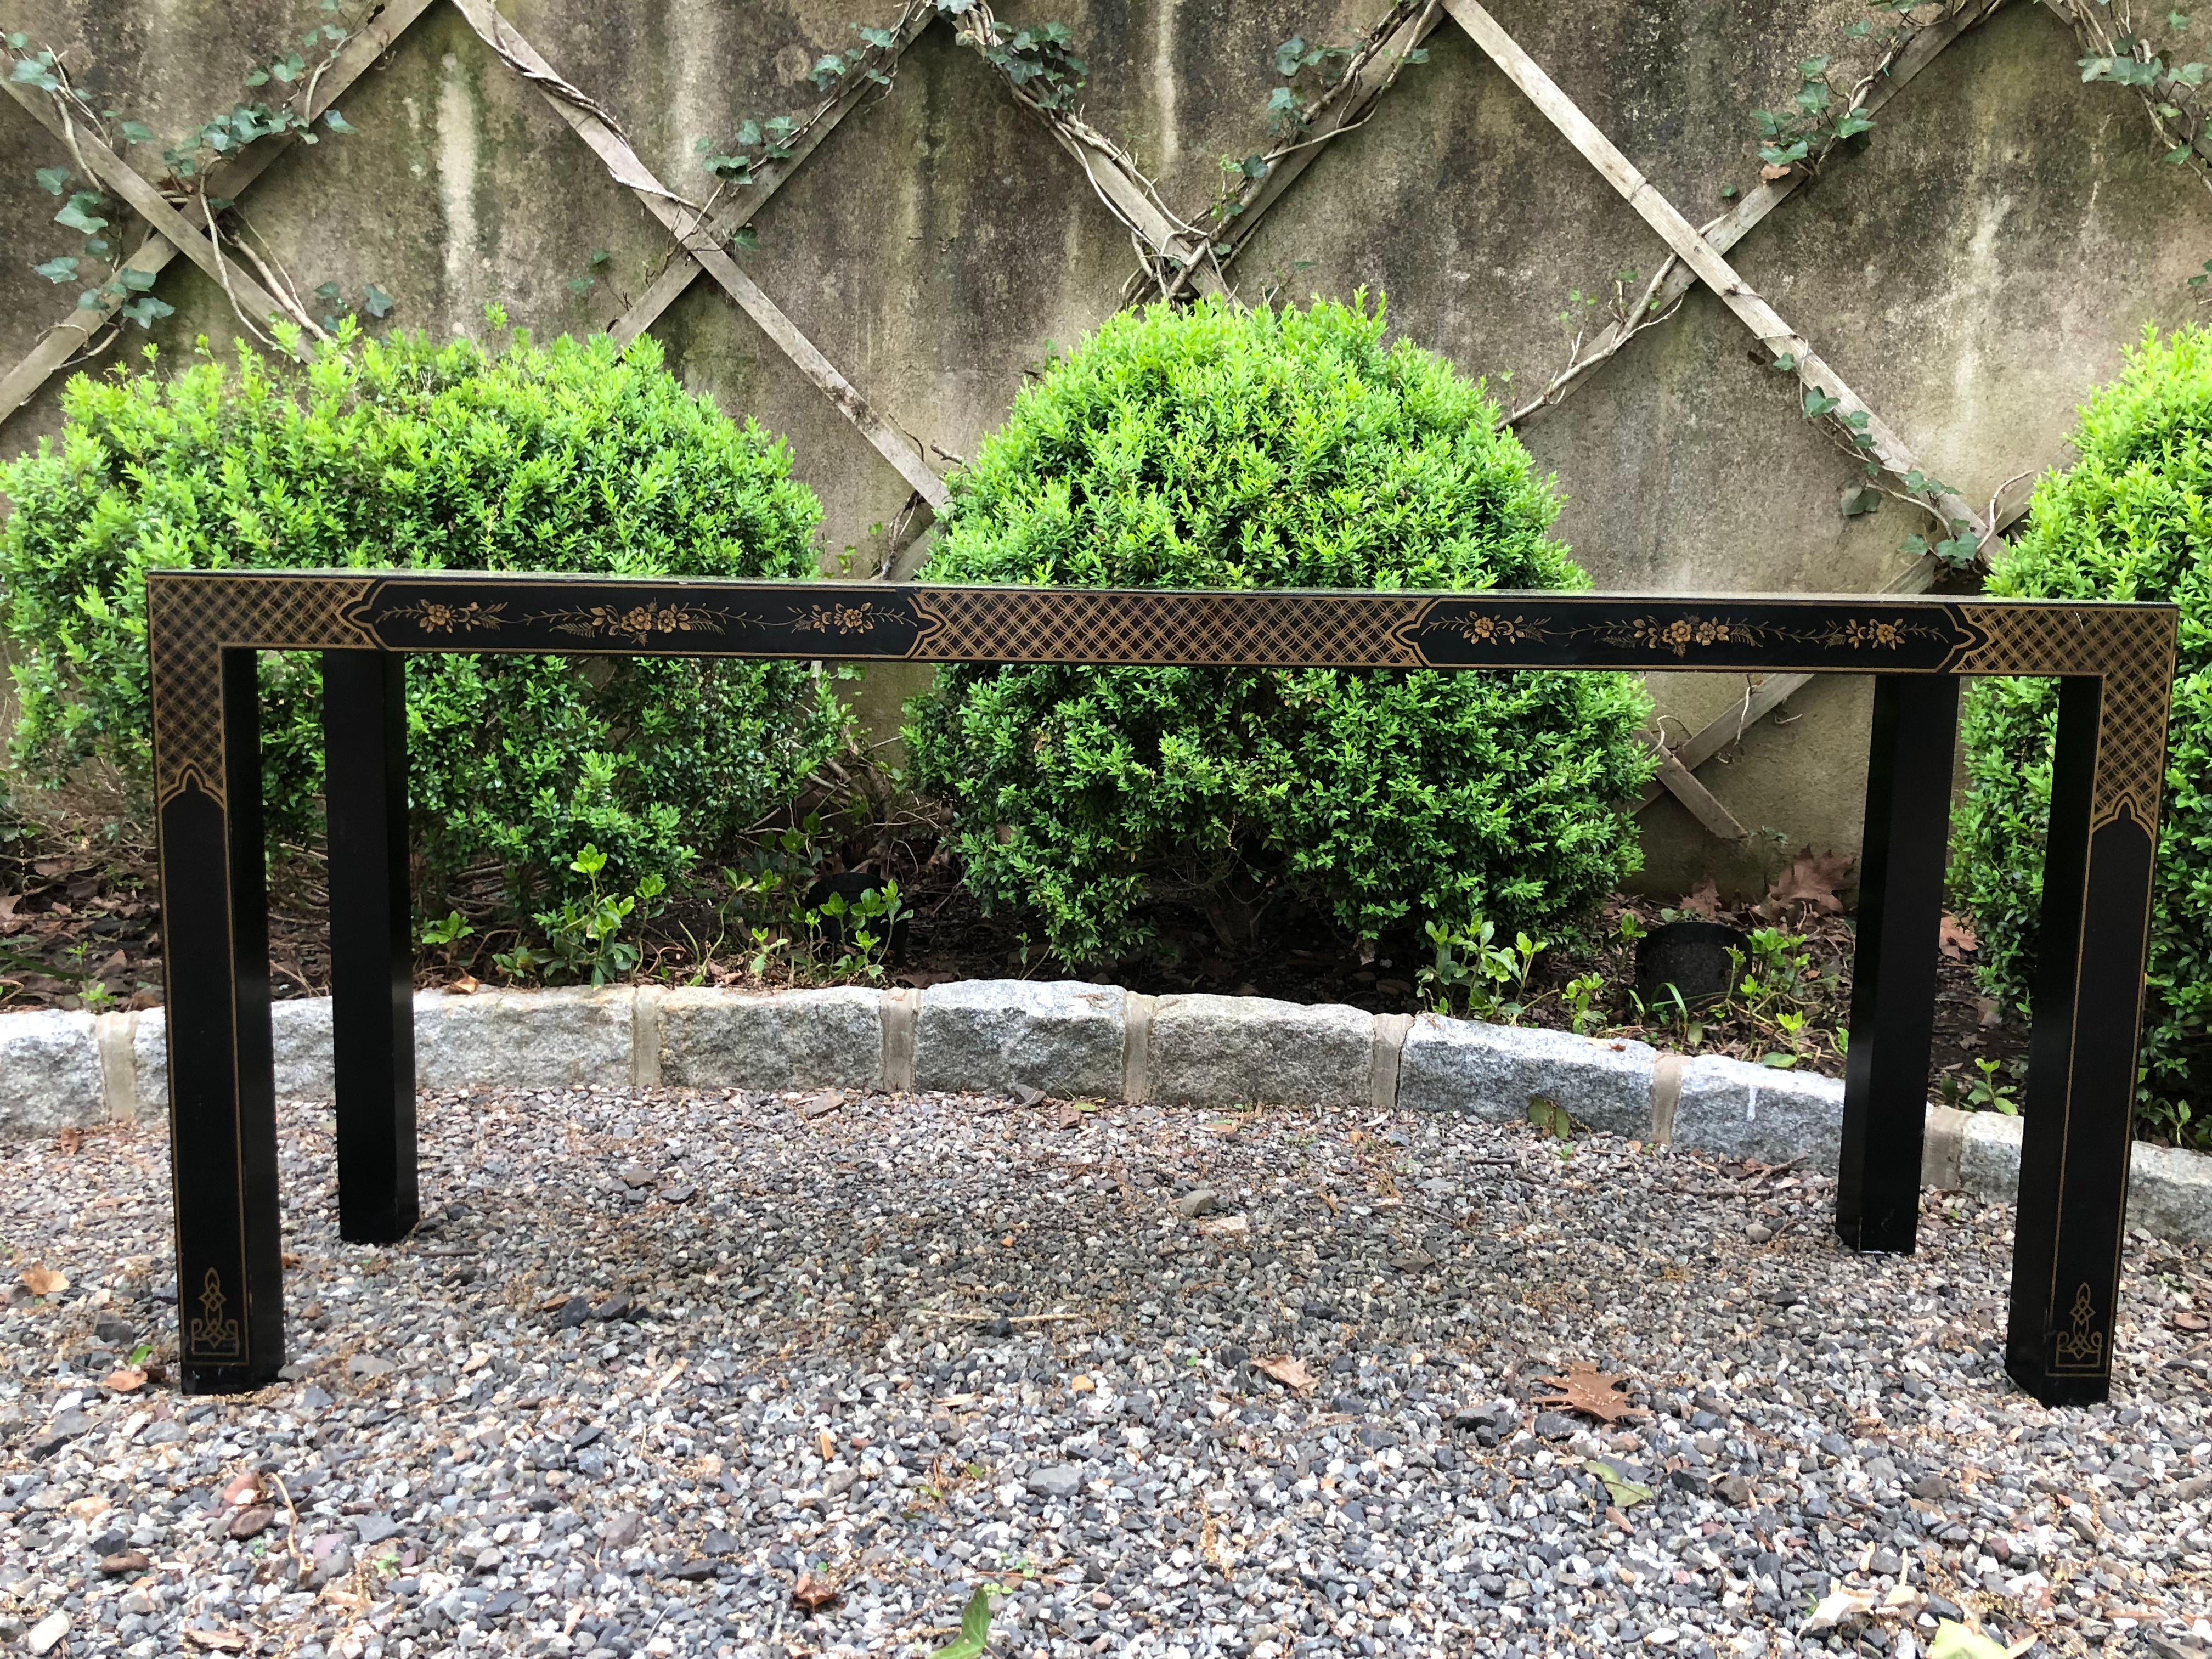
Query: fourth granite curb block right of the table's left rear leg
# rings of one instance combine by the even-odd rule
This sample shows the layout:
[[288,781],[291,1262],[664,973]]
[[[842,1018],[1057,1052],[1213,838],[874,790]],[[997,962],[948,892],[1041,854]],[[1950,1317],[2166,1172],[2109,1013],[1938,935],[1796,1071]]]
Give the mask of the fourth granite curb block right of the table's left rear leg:
[[1374,1064],[1374,1015],[1274,998],[1170,995],[1152,1004],[1157,1102],[1360,1106]]

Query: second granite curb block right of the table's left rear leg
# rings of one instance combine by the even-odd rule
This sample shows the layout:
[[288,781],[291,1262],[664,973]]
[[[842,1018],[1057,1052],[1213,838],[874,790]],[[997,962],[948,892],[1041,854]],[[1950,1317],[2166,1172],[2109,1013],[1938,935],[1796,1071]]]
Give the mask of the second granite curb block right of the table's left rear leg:
[[883,1088],[883,993],[858,984],[661,1002],[661,1082],[690,1088]]

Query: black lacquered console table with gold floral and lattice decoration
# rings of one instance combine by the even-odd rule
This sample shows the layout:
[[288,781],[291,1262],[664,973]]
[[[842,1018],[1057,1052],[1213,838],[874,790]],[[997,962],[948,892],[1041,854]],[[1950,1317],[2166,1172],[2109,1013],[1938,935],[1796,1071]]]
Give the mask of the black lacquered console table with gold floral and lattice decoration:
[[153,750],[186,1391],[283,1365],[257,650],[323,653],[338,1221],[416,1223],[407,653],[1874,675],[1836,1230],[1913,1248],[1962,675],[2059,697],[2006,1367],[2101,1400],[2177,611],[1936,597],[1197,593],[157,571]]

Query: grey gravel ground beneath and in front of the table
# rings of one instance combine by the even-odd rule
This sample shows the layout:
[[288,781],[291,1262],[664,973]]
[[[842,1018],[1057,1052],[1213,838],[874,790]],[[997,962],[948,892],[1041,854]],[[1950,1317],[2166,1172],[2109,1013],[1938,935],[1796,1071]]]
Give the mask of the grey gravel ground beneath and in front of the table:
[[[989,1582],[1024,1659],[2212,1650],[2203,1250],[2130,1243],[2117,1398],[2046,1411],[1955,1197],[1876,1261],[1820,1179],[1411,1113],[422,1110],[372,1250],[285,1108],[234,1400],[100,1383],[175,1356],[164,1130],[9,1148],[0,1648],[920,1655]],[[1575,1360],[1648,1416],[1537,1407]]]

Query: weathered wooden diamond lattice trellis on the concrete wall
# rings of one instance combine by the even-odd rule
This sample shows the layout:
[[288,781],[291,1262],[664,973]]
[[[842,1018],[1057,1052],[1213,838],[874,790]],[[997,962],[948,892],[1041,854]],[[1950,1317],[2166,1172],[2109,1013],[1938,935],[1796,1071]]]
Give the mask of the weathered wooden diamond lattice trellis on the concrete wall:
[[[387,4],[356,31],[336,53],[327,71],[314,82],[301,111],[310,122],[323,115],[354,82],[358,82],[398,38],[422,18],[436,0],[387,0]],[[617,131],[599,104],[582,93],[540,53],[515,24],[502,18],[491,0],[451,0],[476,35],[509,69],[529,80],[546,104],[584,139],[602,159],[608,175],[628,188],[644,208],[659,219],[677,243],[666,270],[646,292],[611,325],[617,341],[630,341],[648,330],[679,294],[699,276],[712,276],[721,290],[774,341],[821,392],[836,411],[880,453],[914,491],[907,529],[894,540],[891,560],[911,546],[929,524],[929,511],[947,500],[945,480],[929,465],[922,447],[898,425],[887,420],[847,380],[838,367],[799,330],[796,323],[754,283],[737,259],[728,252],[730,230],[761,210],[761,206],[787,184],[807,157],[836,131],[838,122],[874,88],[874,82],[858,80],[830,102],[792,146],[787,157],[759,168],[745,188],[741,204],[721,212],[701,212],[684,197],[670,192],[653,170],[637,157],[626,137]],[[1938,55],[1960,40],[1969,29],[1989,20],[2006,0],[1944,0],[1942,13],[1913,29],[1887,58],[1880,75],[1860,91],[1865,113],[1878,111]],[[1177,294],[1190,288],[1201,292],[1223,292],[1223,265],[1250,239],[1261,217],[1274,208],[1292,184],[1305,173],[1327,139],[1363,124],[1376,102],[1396,82],[1398,66],[1427,35],[1444,22],[1458,24],[1467,38],[1513,82],[1513,86],[1548,119],[1573,148],[1588,161],[1613,190],[1666,241],[1668,259],[1637,296],[1637,307],[1626,312],[1630,321],[1617,321],[1577,354],[1577,361],[1557,376],[1540,398],[1513,411],[1513,422],[1542,418],[1544,411],[1577,385],[1590,369],[1610,358],[1650,319],[1666,316],[1692,285],[1703,283],[1759,341],[1761,347],[1816,394],[1836,400],[1836,414],[1856,420],[1865,434],[1863,453],[1893,480],[1902,493],[1920,498],[1944,524],[1966,526],[1978,542],[2004,526],[1995,502],[1975,509],[1971,502],[1924,480],[1909,445],[1891,429],[1820,356],[1814,343],[1794,330],[1770,301],[1743,281],[1730,263],[1728,252],[1761,219],[1787,201],[1807,173],[1792,170],[1778,179],[1761,184],[1747,192],[1725,215],[1705,226],[1690,219],[1668,197],[1646,179],[1632,161],[1599,131],[1575,102],[1544,73],[1544,69],[1500,27],[1480,0],[1400,0],[1369,35],[1367,49],[1354,60],[1352,71],[1336,86],[1334,95],[1316,111],[1307,133],[1296,146],[1276,155],[1263,177],[1254,179],[1241,197],[1241,212],[1225,228],[1206,228],[1177,219],[1168,212],[1150,181],[1144,179],[1128,155],[1099,137],[1079,119],[1048,117],[1046,126],[1055,142],[1082,166],[1099,204],[1115,215],[1133,234],[1141,252],[1144,272],[1133,281],[1130,296]],[[896,38],[887,49],[889,64],[907,53],[916,40],[942,20],[933,4],[916,0],[900,13]],[[184,254],[208,272],[241,316],[283,316],[276,296],[263,288],[239,263],[221,252],[221,239],[190,223],[164,195],[139,175],[126,159],[115,155],[82,124],[71,122],[69,106],[60,97],[35,91],[22,82],[0,82],[22,104],[33,119],[53,133],[82,166],[137,212],[150,234],[126,261],[128,268],[157,274],[177,254]],[[1009,95],[1015,95],[1009,88]],[[1024,100],[1018,100],[1024,102]],[[1033,111],[1035,104],[1029,104]],[[1042,113],[1042,111],[1040,111]],[[292,133],[279,133],[239,150],[226,159],[223,188],[237,197],[259,177],[276,155],[290,146]],[[2197,137],[2205,148],[2205,135]],[[1221,237],[1221,241],[1217,241]],[[115,316],[119,299],[104,307],[73,312],[51,327],[31,354],[7,376],[0,376],[0,420],[20,409],[40,385],[69,365],[73,354]],[[1911,484],[1902,480],[1911,478]],[[1931,555],[1920,555],[1885,584],[1887,593],[1922,593],[1938,573]],[[1668,748],[1657,734],[1650,743],[1659,754],[1659,774],[1639,810],[1650,805],[1661,792],[1674,794],[1712,834],[1741,841],[1745,830],[1692,774],[1697,765],[1719,754],[1747,726],[1772,712],[1807,681],[1805,675],[1770,675],[1759,684],[1747,684],[1741,706],[1712,721],[1683,743]]]

